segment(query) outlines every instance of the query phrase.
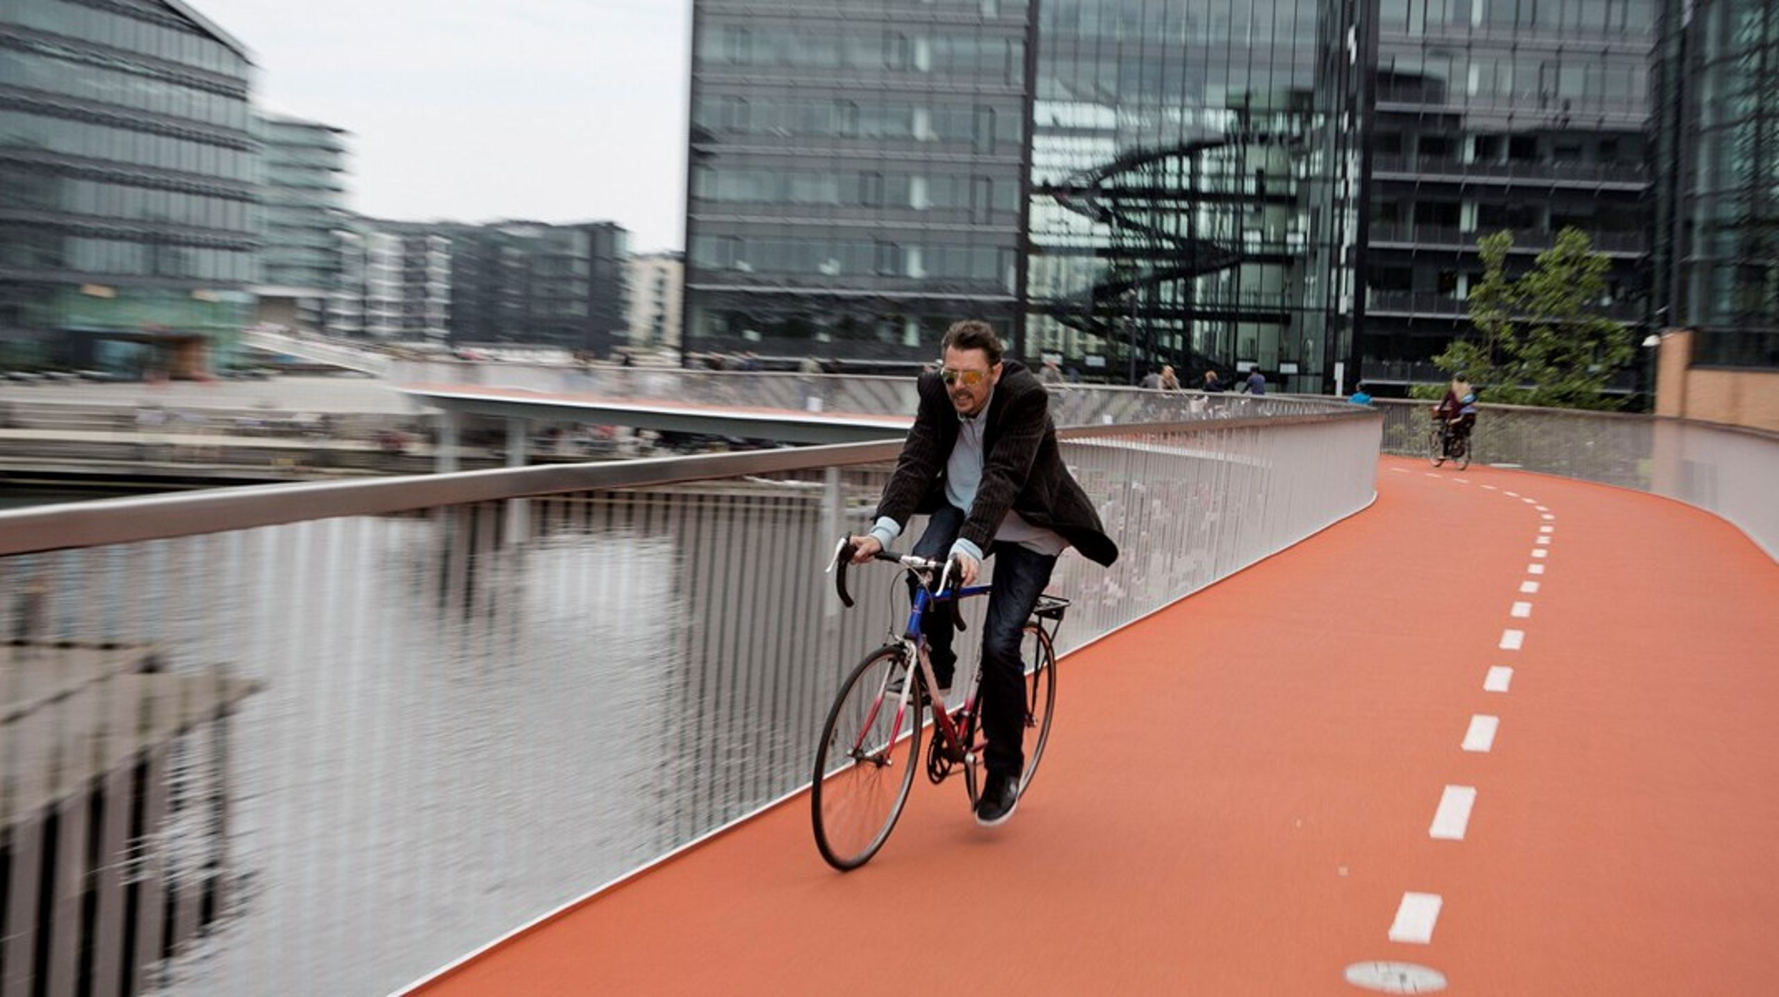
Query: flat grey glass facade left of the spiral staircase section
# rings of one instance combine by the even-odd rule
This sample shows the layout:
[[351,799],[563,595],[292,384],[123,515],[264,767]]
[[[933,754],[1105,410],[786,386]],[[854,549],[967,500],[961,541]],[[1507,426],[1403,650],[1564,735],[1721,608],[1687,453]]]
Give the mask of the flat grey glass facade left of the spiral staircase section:
[[688,352],[929,359],[1014,334],[1025,0],[694,4]]

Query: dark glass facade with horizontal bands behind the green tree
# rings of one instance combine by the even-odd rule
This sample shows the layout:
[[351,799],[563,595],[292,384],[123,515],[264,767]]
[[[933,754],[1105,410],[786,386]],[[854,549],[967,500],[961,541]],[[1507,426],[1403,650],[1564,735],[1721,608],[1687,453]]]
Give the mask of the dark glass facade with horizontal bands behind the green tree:
[[1658,0],[1377,0],[1368,142],[1364,379],[1439,380],[1468,327],[1477,240],[1510,275],[1580,227],[1612,258],[1601,309],[1649,309]]

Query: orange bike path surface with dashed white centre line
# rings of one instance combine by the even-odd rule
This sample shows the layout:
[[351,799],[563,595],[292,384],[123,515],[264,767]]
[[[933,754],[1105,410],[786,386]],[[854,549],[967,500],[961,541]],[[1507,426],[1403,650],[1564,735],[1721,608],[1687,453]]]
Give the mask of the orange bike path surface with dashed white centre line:
[[1386,459],[1372,508],[1064,658],[1005,826],[920,778],[840,874],[799,794],[420,992],[1768,993],[1774,608],[1699,510]]

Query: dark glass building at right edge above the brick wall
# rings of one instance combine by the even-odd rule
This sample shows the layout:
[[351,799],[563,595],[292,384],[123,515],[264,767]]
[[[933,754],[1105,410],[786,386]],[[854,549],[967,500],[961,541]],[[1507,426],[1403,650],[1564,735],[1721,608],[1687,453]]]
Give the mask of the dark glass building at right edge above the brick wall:
[[1669,0],[1663,27],[1662,316],[1697,364],[1779,368],[1779,0]]

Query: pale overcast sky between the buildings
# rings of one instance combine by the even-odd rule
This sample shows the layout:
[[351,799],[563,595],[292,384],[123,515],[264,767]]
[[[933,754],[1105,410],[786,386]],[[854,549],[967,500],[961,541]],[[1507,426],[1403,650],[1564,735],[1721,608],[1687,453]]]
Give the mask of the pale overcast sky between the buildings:
[[680,249],[690,0],[190,0],[254,100],[350,132],[347,206]]

